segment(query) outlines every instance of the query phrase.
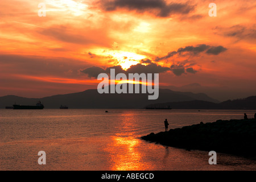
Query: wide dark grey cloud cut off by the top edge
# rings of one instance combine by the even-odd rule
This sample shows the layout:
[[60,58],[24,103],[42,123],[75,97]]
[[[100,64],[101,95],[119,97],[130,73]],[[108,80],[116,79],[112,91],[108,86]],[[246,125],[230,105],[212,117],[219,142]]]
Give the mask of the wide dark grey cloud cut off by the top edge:
[[164,0],[112,0],[101,1],[102,9],[115,11],[119,8],[139,13],[153,13],[158,17],[168,17],[174,14],[188,14],[195,9],[189,3],[167,3]]

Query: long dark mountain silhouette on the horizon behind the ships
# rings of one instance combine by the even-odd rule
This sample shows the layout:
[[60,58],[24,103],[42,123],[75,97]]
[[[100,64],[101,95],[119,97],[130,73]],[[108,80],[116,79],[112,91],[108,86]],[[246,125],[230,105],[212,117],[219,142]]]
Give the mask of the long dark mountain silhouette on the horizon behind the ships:
[[84,92],[61,94],[43,98],[24,98],[18,96],[0,97],[0,108],[5,106],[35,105],[39,100],[46,109],[59,108],[60,105],[67,105],[70,109],[142,109],[146,105],[163,102],[181,102],[203,100],[217,103],[217,100],[208,97],[206,94],[191,92],[175,92],[169,89],[159,89],[157,100],[148,100],[148,93],[142,94],[99,94],[97,89],[89,89]]

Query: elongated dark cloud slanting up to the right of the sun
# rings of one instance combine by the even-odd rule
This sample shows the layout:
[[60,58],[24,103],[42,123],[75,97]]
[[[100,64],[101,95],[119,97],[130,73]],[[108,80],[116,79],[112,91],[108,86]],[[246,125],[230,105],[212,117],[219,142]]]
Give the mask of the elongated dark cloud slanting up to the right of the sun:
[[187,46],[185,48],[179,48],[177,49],[177,51],[172,51],[172,52],[168,52],[168,54],[166,56],[163,57],[156,57],[155,61],[160,61],[160,60],[165,60],[168,59],[169,57],[172,57],[174,55],[182,55],[183,53],[189,53],[191,55],[197,55],[201,52],[205,52],[208,54],[212,54],[212,55],[218,55],[221,52],[226,51],[227,49],[222,47],[222,46],[208,46],[206,44],[200,44],[198,46]]

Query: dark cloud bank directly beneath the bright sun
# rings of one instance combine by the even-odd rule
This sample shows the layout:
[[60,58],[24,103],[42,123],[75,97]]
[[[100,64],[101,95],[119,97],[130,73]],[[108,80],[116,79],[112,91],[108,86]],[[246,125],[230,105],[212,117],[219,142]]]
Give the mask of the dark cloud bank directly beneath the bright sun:
[[108,67],[106,69],[103,69],[101,67],[90,67],[83,69],[81,72],[87,74],[89,77],[97,78],[100,73],[110,73],[110,69],[115,69],[115,74],[118,73],[125,73],[128,75],[129,73],[163,73],[166,71],[169,71],[170,68],[168,67],[162,67],[160,65],[157,65],[155,63],[150,63],[148,65],[131,65],[129,69],[126,71],[122,69],[120,65],[114,66],[114,67]]

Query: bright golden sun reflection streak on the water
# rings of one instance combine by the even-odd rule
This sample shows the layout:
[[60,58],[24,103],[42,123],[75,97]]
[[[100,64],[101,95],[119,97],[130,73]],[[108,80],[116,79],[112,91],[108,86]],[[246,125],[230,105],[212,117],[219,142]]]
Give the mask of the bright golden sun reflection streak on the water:
[[142,152],[142,140],[137,138],[133,129],[138,121],[132,114],[122,115],[120,126],[122,131],[110,137],[111,142],[106,146],[109,152],[109,164],[112,171],[139,171],[151,169],[152,164],[146,160]]

